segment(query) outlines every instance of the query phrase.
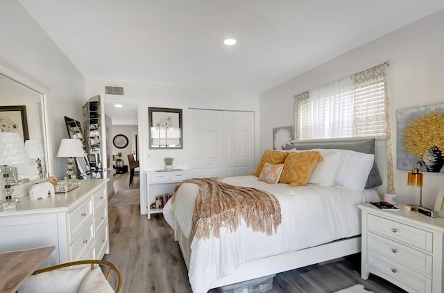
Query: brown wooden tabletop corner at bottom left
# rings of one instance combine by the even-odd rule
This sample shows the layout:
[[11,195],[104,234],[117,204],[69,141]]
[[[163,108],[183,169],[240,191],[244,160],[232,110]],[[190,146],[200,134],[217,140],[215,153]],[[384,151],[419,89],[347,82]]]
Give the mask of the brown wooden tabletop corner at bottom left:
[[0,292],[17,292],[54,249],[50,246],[0,254]]

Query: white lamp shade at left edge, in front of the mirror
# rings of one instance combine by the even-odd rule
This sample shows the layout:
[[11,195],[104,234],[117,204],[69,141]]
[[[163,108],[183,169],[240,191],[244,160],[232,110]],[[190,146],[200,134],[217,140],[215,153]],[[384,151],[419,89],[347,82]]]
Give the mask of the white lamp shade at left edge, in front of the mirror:
[[0,132],[0,165],[29,163],[25,145],[17,132]]

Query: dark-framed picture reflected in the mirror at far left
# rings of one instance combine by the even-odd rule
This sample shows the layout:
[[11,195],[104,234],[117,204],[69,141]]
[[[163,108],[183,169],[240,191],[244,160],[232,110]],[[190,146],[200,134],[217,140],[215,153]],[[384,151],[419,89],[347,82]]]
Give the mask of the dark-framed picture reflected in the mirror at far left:
[[22,141],[29,139],[26,106],[0,106],[0,131],[16,132]]

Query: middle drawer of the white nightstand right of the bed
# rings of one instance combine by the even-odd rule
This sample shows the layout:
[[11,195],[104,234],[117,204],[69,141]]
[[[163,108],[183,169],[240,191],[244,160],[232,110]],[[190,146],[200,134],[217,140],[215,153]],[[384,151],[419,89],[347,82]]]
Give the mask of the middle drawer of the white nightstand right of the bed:
[[422,251],[370,232],[367,233],[367,248],[382,255],[387,260],[395,260],[422,274],[432,275],[432,256]]

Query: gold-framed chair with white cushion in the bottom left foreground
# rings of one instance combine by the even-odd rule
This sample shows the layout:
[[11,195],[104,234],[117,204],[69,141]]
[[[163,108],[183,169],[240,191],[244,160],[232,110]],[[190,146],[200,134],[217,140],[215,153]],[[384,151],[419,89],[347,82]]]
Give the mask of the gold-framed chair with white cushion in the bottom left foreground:
[[[103,272],[100,266],[103,266]],[[115,282],[110,285],[114,272]],[[38,269],[19,287],[18,293],[119,293],[122,276],[119,269],[106,260],[78,260]]]

